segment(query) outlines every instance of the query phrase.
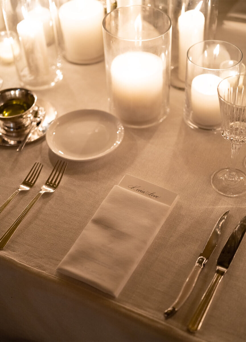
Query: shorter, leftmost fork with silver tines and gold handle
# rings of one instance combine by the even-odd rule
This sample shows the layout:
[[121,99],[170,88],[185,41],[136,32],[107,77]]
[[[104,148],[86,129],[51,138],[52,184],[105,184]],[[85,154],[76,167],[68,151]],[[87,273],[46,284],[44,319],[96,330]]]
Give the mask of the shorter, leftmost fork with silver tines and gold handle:
[[36,183],[38,176],[42,170],[43,164],[36,162],[31,168],[30,172],[24,179],[24,181],[19,185],[19,188],[3,203],[0,207],[0,213],[8,206],[12,199],[20,192],[30,190]]

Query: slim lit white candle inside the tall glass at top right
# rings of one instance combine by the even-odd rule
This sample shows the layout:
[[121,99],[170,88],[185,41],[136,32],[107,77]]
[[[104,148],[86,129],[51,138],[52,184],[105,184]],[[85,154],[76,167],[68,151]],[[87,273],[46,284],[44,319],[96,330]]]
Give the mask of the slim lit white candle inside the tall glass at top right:
[[202,1],[197,5],[196,9],[182,13],[178,18],[178,34],[179,34],[179,65],[178,77],[181,81],[185,81],[187,51],[189,48],[203,41],[205,17],[199,11]]

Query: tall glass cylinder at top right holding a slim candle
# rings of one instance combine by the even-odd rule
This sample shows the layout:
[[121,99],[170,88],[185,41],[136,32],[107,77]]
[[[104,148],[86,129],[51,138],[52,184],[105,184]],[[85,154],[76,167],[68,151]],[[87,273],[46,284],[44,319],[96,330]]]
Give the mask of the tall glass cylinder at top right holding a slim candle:
[[172,20],[171,85],[184,89],[186,56],[195,43],[214,39],[217,16],[217,0],[168,1],[167,13]]

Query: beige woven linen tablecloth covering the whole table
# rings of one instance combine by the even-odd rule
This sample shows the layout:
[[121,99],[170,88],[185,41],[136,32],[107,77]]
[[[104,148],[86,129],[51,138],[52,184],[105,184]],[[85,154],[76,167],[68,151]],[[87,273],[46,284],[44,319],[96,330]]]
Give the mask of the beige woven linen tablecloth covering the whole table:
[[[237,45],[245,49],[240,39]],[[63,81],[54,89],[37,91],[38,97],[50,101],[58,116],[81,108],[108,110],[104,62],[63,64]],[[0,75],[3,88],[19,85],[13,65],[1,66]],[[183,100],[184,93],[172,88],[170,114],[161,124],[126,128],[122,144],[104,158],[69,162],[57,191],[42,196],[29,212],[0,252],[1,341],[246,340],[246,240],[221,281],[201,330],[195,335],[186,330],[214,275],[220,250],[246,213],[246,196],[223,197],[211,187],[211,174],[229,165],[230,144],[220,133],[190,129],[182,118]],[[21,154],[0,147],[0,156],[0,203],[35,161],[44,164],[33,189],[18,194],[2,212],[2,234],[39,191],[58,157],[45,139],[28,144]],[[238,167],[244,171],[245,157],[243,146]],[[56,267],[126,173],[172,190],[180,199],[118,299],[112,299],[59,274]],[[164,310],[176,299],[214,224],[229,209],[218,246],[194,291],[165,321]]]

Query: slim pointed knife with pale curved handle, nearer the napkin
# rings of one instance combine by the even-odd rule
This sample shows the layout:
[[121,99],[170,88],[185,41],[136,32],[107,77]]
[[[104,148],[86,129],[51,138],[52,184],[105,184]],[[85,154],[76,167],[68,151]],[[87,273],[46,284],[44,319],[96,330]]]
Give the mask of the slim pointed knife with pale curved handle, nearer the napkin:
[[202,253],[199,255],[198,259],[196,260],[195,266],[192,268],[191,273],[189,274],[188,278],[186,279],[186,282],[184,283],[178,298],[176,299],[176,301],[173,303],[172,306],[170,306],[165,312],[164,312],[164,316],[165,318],[169,318],[171,316],[173,316],[178,310],[179,308],[183,305],[183,303],[187,300],[187,298],[189,297],[189,295],[191,294],[196,281],[203,269],[203,267],[205,266],[206,262],[208,261],[208,258],[210,257],[210,255],[213,253],[213,250],[215,249],[215,247],[217,246],[217,242],[219,239],[219,235],[220,235],[220,229],[223,226],[224,222],[226,221],[227,215],[229,213],[229,210],[227,212],[225,212],[221,218],[218,220],[218,222],[216,223],[208,241],[207,244],[204,248],[204,250],[202,251]]

